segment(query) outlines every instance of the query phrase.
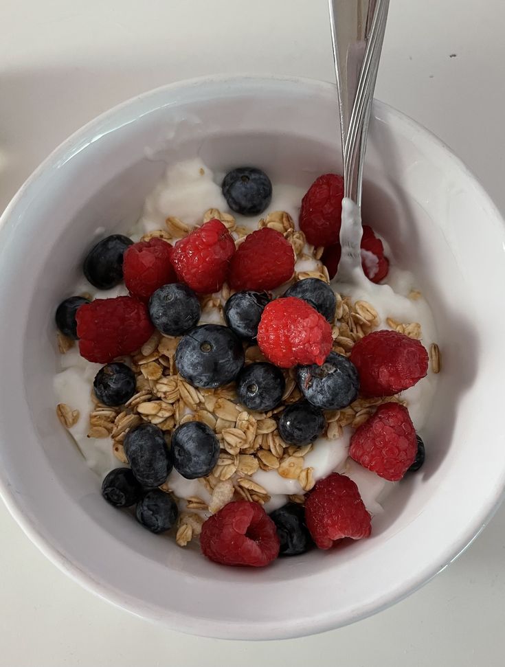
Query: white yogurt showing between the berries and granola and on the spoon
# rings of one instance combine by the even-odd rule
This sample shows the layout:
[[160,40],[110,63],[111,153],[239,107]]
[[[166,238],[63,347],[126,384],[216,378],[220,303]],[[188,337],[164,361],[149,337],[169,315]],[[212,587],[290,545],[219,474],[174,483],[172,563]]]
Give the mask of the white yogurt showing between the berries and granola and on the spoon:
[[[144,205],[144,212],[139,222],[131,230],[131,236],[138,239],[142,234],[155,229],[164,229],[168,216],[175,216],[190,225],[201,223],[205,210],[213,207],[222,212],[231,212],[221,193],[214,174],[199,159],[183,161],[170,166],[163,179],[155,186]],[[271,205],[267,212],[276,210],[287,211],[296,222],[300,212],[300,203],[304,191],[293,185],[274,185]],[[237,225],[254,229],[258,219],[236,217]],[[379,314],[379,328],[389,328],[387,317],[401,322],[418,322],[423,332],[423,344],[429,347],[436,340],[436,330],[431,311],[425,299],[412,300],[407,297],[414,288],[412,274],[390,266],[388,285],[376,285],[364,275],[361,269],[361,260],[366,263],[368,271],[377,271],[377,258],[372,253],[361,251],[361,218],[359,209],[352,201],[344,199],[342,203],[341,245],[342,256],[339,271],[333,280],[335,291],[348,295],[353,301],[363,299],[370,302]],[[316,260],[299,259],[296,262],[296,271],[313,271],[317,267]],[[124,286],[108,291],[99,291],[93,288],[86,280],[76,286],[76,294],[90,293],[94,298],[108,298],[127,293]],[[205,310],[200,323],[223,324],[221,314],[217,310]],[[87,438],[89,429],[89,411],[93,409],[91,389],[93,378],[101,368],[100,364],[89,363],[82,359],[77,348],[73,348],[61,357],[61,372],[54,378],[54,392],[60,403],[67,403],[73,409],[78,409],[80,418],[76,425],[71,427],[70,433],[74,436],[87,463],[100,477],[103,477],[111,468],[120,465],[112,453],[110,438]],[[431,400],[436,384],[436,376],[429,372],[416,386],[403,392],[409,405],[409,413],[416,429],[423,427],[429,414]],[[315,441],[313,450],[304,457],[304,466],[313,468],[313,476],[317,479],[326,477],[332,471],[345,473],[353,479],[361,493],[366,507],[372,514],[380,512],[381,506],[377,501],[383,495],[387,486],[375,473],[371,473],[348,457],[349,440],[352,429],[346,427],[341,438],[329,441],[319,438]],[[265,506],[268,512],[282,506],[291,494],[303,493],[302,487],[296,479],[284,479],[275,471],[259,470],[253,475],[258,484],[261,484],[271,500]],[[210,501],[210,495],[197,480],[188,480],[177,471],[170,473],[168,484],[177,497],[183,499],[190,496],[199,496],[204,501]],[[182,504],[183,506],[183,504]]]

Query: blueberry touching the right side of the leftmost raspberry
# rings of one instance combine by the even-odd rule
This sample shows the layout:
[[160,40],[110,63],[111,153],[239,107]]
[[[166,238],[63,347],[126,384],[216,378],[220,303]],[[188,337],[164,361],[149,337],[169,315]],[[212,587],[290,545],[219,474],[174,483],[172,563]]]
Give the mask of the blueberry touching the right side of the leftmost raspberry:
[[164,285],[149,299],[150,319],[162,334],[181,336],[200,319],[197,295],[181,282]]

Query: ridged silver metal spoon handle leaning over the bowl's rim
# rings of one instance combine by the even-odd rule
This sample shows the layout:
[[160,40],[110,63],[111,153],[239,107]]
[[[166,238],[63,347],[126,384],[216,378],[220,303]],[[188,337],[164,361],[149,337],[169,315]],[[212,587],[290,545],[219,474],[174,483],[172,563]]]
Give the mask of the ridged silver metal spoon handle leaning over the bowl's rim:
[[368,121],[389,0],[329,0],[339,93],[344,196],[361,205]]

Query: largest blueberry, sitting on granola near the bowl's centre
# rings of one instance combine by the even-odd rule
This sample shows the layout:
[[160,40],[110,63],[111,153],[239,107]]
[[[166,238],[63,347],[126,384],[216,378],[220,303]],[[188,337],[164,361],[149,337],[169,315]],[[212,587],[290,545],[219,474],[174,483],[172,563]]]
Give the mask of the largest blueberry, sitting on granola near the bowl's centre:
[[175,352],[179,374],[195,387],[221,387],[244,365],[242,343],[221,324],[202,324],[179,341]]

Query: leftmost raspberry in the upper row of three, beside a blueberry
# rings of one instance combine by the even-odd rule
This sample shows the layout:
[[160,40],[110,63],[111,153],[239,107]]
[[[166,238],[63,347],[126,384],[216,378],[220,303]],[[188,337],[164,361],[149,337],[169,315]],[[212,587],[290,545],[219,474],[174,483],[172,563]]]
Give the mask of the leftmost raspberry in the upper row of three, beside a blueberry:
[[161,238],[139,241],[124,253],[124,284],[133,297],[148,301],[159,287],[176,282],[170,262],[172,246]]

